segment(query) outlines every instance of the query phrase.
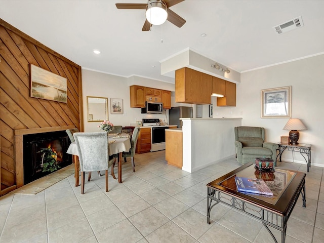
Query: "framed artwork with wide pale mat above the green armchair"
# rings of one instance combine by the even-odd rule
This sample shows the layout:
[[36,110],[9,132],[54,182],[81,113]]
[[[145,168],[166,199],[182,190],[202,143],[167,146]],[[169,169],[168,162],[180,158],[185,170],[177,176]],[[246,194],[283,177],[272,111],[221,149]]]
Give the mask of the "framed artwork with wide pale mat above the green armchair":
[[261,118],[290,118],[292,87],[261,90]]

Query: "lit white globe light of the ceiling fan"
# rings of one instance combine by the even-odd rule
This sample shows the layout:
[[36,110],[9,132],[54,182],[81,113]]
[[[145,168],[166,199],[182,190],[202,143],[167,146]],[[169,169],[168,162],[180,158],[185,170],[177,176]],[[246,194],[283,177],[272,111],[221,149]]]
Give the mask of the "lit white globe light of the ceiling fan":
[[168,18],[167,5],[163,0],[149,0],[145,16],[148,22],[153,25],[160,25]]

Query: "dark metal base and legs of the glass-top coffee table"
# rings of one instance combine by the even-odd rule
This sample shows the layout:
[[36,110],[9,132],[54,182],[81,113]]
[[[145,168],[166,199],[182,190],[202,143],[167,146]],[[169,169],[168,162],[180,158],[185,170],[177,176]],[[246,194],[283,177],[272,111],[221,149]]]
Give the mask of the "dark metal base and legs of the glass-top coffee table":
[[[242,212],[245,212],[253,216],[254,218],[261,220],[262,224],[268,230],[268,232],[270,233],[270,235],[272,236],[275,242],[278,241],[276,240],[275,236],[269,229],[269,226],[281,231],[281,242],[284,243],[286,240],[287,221],[297,203],[300,194],[302,194],[302,198],[303,198],[303,207],[306,207],[305,180],[303,181],[302,186],[299,188],[296,197],[293,198],[293,204],[289,209],[288,214],[284,216],[280,214],[276,214],[275,212],[262,208],[261,206],[258,206],[256,204],[248,203],[242,198],[227,194],[216,188],[214,189],[214,188],[207,187],[207,189],[208,189],[207,191],[207,223],[208,224],[210,224],[210,213],[212,208],[221,202],[232,208],[241,210]],[[213,201],[215,201],[214,204],[212,204]]]

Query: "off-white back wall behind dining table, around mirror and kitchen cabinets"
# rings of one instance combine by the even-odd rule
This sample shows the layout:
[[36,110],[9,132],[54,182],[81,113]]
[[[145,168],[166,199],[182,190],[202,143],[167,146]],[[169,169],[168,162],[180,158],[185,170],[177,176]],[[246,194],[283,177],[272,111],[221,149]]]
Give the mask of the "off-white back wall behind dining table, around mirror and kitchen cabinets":
[[[93,70],[82,69],[82,92],[84,104],[84,128],[85,132],[97,132],[100,122],[87,121],[87,96],[98,96],[108,98],[108,120],[114,125],[130,126],[135,125],[137,120],[143,118],[159,118],[169,121],[169,111],[162,114],[141,114],[140,108],[130,107],[130,86],[140,85],[156,89],[170,90],[172,106],[184,105],[174,102],[174,84],[160,82],[145,77],[132,76],[121,77],[107,73],[97,72]],[[123,99],[123,114],[111,114],[110,98]],[[190,105],[190,104],[189,104]],[[191,105],[190,105],[191,106]]]

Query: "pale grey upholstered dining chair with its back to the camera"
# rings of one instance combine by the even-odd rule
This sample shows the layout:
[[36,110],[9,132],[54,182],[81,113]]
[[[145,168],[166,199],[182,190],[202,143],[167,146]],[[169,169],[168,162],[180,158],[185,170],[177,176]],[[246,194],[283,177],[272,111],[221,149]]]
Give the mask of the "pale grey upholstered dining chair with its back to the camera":
[[79,154],[81,171],[81,194],[85,190],[85,172],[106,171],[106,192],[108,192],[108,169],[111,167],[111,175],[114,179],[113,166],[116,158],[109,158],[108,133],[73,133],[75,144]]

